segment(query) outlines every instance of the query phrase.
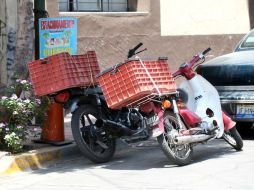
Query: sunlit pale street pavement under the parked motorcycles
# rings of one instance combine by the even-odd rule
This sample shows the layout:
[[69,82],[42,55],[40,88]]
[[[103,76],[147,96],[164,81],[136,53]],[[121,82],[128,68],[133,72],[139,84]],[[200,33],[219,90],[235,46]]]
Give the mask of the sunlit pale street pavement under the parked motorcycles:
[[69,189],[254,189],[254,140],[236,152],[223,140],[194,148],[192,164],[168,161],[156,141],[117,151],[112,161],[95,165],[76,155],[39,170],[0,178],[0,190]]

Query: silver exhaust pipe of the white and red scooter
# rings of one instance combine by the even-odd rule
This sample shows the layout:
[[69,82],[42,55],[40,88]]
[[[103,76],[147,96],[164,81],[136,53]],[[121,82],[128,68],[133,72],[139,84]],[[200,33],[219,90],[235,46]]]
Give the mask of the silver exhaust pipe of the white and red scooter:
[[178,136],[175,137],[176,144],[189,144],[189,143],[197,143],[213,138],[214,135],[188,135],[188,136]]

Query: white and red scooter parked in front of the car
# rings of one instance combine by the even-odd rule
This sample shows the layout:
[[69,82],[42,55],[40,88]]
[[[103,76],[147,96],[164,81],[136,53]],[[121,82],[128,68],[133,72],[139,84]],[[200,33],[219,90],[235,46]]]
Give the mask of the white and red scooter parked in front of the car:
[[186,80],[179,86],[179,98],[173,100],[174,114],[165,110],[163,124],[157,126],[163,152],[178,165],[189,164],[192,147],[211,139],[222,137],[236,150],[243,147],[235,122],[221,109],[217,90],[194,70],[210,50],[195,55],[173,73],[174,78],[183,76]]

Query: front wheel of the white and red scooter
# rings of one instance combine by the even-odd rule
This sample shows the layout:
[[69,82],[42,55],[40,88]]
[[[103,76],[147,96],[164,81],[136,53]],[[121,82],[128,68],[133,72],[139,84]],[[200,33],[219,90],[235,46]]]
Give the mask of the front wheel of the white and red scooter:
[[234,126],[232,129],[229,129],[229,131],[225,131],[222,137],[234,149],[238,151],[242,150],[243,140],[240,134],[238,133],[236,126]]

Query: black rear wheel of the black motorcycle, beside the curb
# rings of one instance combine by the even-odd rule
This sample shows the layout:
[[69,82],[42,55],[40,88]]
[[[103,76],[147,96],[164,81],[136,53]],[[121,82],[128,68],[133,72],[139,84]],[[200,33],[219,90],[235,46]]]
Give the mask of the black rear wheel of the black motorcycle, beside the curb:
[[80,151],[95,163],[108,162],[115,153],[115,139],[95,122],[98,112],[90,105],[80,106],[72,115],[71,128],[73,138]]

